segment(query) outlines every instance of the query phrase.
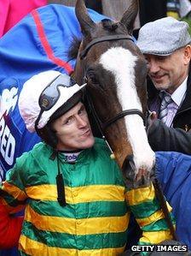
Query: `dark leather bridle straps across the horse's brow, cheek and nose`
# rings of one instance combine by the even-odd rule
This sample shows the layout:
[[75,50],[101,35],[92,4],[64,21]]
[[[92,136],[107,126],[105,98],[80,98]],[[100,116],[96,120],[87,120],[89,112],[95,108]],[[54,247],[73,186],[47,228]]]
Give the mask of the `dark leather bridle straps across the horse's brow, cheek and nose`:
[[[88,45],[86,45],[84,50],[79,54],[79,57],[80,57],[81,60],[83,60],[84,57],[87,56],[88,52],[90,51],[90,48],[93,45],[96,45],[98,43],[105,42],[105,41],[116,41],[116,40],[123,40],[123,39],[131,40],[132,42],[134,42],[133,38],[130,35],[125,35],[125,34],[108,35],[108,36],[105,36],[105,37],[93,39],[93,40],[90,41],[90,43]],[[84,77],[84,79],[87,80],[86,77]],[[116,116],[107,120],[107,122],[101,122],[99,116],[96,114],[96,110],[94,108],[94,105],[92,103],[90,95],[88,95],[88,93],[86,93],[86,96],[87,96],[88,104],[90,106],[90,110],[92,111],[92,113],[93,113],[93,115],[96,119],[97,126],[100,129],[100,132],[101,132],[102,135],[103,135],[103,132],[106,130],[106,128],[108,128],[110,125],[112,125],[114,122],[117,122],[120,118],[123,118],[124,116],[138,115],[138,116],[141,116],[143,122],[145,122],[145,116],[143,115],[142,111],[138,110],[138,109],[123,110],[119,114],[117,114]],[[105,136],[104,136],[104,138],[105,138]]]

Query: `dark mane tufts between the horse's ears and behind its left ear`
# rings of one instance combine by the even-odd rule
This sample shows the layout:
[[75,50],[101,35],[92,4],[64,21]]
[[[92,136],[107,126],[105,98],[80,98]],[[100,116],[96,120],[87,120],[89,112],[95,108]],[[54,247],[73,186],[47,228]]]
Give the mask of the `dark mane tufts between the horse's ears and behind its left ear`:
[[[109,19],[101,20],[101,24],[102,24],[103,29],[105,29],[109,32],[114,32],[119,27],[119,23],[111,21]],[[72,43],[71,43],[71,46],[68,51],[68,58],[70,60],[77,58],[78,49],[79,49],[79,45],[80,45],[81,41],[82,41],[82,39],[78,39],[77,37],[73,36]]]

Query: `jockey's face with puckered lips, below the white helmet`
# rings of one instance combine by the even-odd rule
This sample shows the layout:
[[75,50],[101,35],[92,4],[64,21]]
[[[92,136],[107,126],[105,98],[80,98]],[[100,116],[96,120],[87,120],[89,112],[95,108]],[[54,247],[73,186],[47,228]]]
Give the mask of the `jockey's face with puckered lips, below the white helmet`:
[[58,150],[74,151],[90,148],[95,139],[84,104],[79,102],[52,124],[58,138]]

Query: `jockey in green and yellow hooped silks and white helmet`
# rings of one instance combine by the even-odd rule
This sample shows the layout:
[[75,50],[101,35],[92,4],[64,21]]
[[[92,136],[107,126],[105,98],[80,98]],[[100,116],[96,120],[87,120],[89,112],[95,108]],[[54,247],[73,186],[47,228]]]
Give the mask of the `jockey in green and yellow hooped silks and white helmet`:
[[[0,189],[0,247],[19,239],[20,255],[119,255],[130,211],[140,245],[171,239],[153,185],[126,188],[105,141],[94,138],[84,86],[54,70],[26,80],[20,115],[43,142],[16,159]],[[22,223],[13,213],[24,208]]]

